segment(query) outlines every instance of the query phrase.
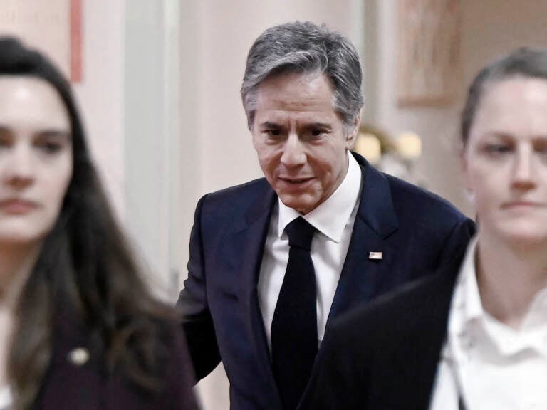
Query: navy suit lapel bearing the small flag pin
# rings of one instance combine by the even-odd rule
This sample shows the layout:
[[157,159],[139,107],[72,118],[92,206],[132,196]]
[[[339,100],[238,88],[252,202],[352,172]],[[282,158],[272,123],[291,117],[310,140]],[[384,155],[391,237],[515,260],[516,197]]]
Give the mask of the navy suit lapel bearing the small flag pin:
[[[327,327],[335,317],[375,295],[378,281],[389,271],[396,255],[395,245],[386,241],[398,225],[390,186],[363,157],[358,154],[354,157],[363,176],[360,204]],[[381,252],[381,259],[370,258],[370,252]]]

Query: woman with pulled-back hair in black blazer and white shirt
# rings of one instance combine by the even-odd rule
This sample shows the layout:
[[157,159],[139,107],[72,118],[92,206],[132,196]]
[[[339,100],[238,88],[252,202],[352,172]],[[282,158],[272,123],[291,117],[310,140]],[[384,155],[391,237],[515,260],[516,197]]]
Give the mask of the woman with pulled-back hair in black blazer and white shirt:
[[547,409],[547,51],[486,66],[462,115],[463,259],[333,325],[304,409]]

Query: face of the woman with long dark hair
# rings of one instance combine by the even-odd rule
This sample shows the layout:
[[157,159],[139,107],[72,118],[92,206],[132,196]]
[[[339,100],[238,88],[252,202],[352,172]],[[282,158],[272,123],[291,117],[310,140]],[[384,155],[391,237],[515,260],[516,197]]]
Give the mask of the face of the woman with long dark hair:
[[0,243],[38,243],[72,176],[71,125],[44,80],[0,76]]

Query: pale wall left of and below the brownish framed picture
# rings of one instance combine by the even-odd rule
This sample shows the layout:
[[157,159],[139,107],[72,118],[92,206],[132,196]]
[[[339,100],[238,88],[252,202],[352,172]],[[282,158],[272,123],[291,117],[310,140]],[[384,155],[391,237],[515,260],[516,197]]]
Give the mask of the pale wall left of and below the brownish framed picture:
[[459,178],[457,129],[459,100],[446,107],[397,106],[397,1],[377,0],[377,100],[375,123],[391,135],[413,131],[422,137],[416,172],[427,189],[467,209]]

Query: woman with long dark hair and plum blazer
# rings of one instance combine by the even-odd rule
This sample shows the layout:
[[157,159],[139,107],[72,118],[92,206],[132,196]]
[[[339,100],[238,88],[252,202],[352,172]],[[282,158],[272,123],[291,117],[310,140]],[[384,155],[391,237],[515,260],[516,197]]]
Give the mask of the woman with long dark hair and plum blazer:
[[141,279],[67,80],[0,38],[0,409],[194,409],[180,332]]

